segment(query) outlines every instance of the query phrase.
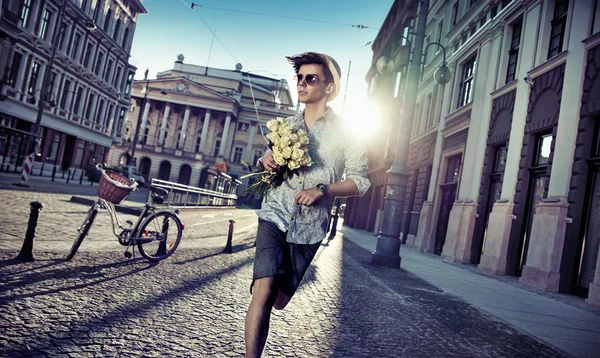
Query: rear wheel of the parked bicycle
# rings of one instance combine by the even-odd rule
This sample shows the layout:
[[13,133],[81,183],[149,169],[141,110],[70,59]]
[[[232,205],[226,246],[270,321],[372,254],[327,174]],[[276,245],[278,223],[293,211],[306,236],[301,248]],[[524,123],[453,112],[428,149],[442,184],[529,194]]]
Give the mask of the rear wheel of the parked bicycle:
[[160,261],[175,252],[182,234],[179,217],[170,211],[159,211],[144,220],[135,240],[142,256],[150,261]]

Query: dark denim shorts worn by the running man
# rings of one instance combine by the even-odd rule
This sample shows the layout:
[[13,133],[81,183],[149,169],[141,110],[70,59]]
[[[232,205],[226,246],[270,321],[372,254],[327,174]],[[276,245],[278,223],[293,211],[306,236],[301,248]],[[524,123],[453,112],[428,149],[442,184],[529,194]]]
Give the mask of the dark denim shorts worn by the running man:
[[263,277],[277,277],[279,290],[289,297],[296,293],[321,243],[294,244],[287,242],[286,237],[287,233],[277,225],[258,219],[250,293],[254,280]]

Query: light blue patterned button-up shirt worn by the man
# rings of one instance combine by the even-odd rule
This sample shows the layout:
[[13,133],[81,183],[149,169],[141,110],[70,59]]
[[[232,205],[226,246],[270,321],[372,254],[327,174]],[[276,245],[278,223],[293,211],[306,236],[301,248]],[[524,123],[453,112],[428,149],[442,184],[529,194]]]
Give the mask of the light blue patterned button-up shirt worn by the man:
[[[297,128],[306,131],[304,111],[287,118]],[[285,180],[263,198],[258,217],[287,231],[287,241],[295,244],[316,244],[325,238],[330,210],[335,198],[324,196],[311,206],[296,204],[296,195],[317,184],[334,184],[352,180],[363,196],[370,187],[367,178],[367,148],[364,140],[350,134],[342,118],[328,108],[308,132],[310,167],[299,169],[299,175]]]

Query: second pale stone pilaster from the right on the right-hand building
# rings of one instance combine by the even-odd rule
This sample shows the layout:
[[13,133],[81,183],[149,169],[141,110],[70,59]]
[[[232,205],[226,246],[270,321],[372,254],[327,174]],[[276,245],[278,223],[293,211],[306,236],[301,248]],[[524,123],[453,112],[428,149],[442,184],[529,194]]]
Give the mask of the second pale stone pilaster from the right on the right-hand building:
[[535,67],[535,48],[538,40],[538,31],[535,29],[539,28],[542,19],[541,11],[542,4],[540,3],[528,9],[523,16],[522,32],[524,37],[523,45],[520,46],[523,51],[519,53],[517,94],[508,142],[506,169],[502,180],[502,200],[494,204],[490,213],[485,248],[478,265],[479,269],[493,274],[503,275],[506,273],[510,231],[515,219],[513,200],[519,174],[523,129],[525,128],[530,91],[529,85],[522,79],[529,70]]

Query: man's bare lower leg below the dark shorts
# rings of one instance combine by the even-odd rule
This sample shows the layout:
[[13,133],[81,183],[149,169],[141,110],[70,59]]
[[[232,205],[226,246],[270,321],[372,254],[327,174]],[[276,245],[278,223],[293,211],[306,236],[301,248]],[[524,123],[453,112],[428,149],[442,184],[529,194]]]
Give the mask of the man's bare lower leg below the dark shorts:
[[271,310],[278,291],[275,277],[264,277],[254,281],[252,300],[246,313],[247,358],[258,358],[262,355],[269,335]]

